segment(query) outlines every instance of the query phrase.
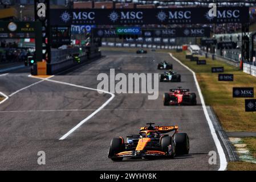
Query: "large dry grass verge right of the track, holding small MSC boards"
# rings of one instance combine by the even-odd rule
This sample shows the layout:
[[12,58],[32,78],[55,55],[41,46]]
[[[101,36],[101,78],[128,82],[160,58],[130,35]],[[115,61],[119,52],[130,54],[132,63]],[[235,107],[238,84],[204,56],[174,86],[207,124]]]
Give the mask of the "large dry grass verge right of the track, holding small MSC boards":
[[[245,112],[245,98],[233,98],[233,87],[254,87],[256,77],[243,73],[223,61],[206,59],[206,65],[185,59],[186,52],[173,52],[182,63],[196,72],[206,105],[212,106],[226,131],[256,131],[256,114]],[[200,59],[205,59],[201,57]],[[234,82],[218,81],[212,67],[224,67],[225,73],[234,74]],[[175,68],[174,68],[175,69]]]

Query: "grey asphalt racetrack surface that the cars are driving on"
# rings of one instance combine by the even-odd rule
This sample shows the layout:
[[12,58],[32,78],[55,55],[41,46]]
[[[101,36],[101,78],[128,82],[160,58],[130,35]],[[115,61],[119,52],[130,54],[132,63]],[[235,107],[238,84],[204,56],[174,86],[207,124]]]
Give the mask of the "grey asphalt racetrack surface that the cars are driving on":
[[[169,53],[103,51],[101,59],[55,76],[38,78],[29,71],[1,73],[0,169],[25,170],[224,170],[226,157],[209,116],[194,73]],[[155,60],[155,61],[153,61]],[[157,100],[148,94],[112,94],[97,90],[97,76],[117,73],[162,73],[166,60],[181,82],[160,82]],[[171,88],[197,94],[196,106],[164,106],[162,95]],[[102,90],[101,90],[102,91]],[[174,159],[125,159],[112,162],[108,148],[113,137],[139,133],[146,123],[178,125],[188,133],[190,152]],[[46,164],[38,164],[38,152]],[[217,164],[209,164],[209,152]]]

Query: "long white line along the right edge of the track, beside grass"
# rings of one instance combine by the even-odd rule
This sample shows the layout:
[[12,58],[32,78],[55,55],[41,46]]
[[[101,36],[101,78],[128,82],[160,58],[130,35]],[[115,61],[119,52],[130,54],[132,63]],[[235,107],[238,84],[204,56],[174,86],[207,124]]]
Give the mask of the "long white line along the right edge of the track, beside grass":
[[181,61],[178,60],[176,57],[174,57],[172,55],[172,53],[169,53],[169,55],[170,55],[170,57],[172,57],[174,60],[176,60],[178,63],[180,63],[183,67],[188,69],[193,74],[194,81],[196,82],[197,90],[198,90],[198,93],[199,93],[199,96],[200,96],[200,99],[201,99],[201,102],[202,102],[202,107],[204,109],[204,114],[205,114],[205,117],[207,119],[207,122],[208,122],[208,125],[209,125],[209,128],[210,128],[210,131],[211,131],[214,143],[216,144],[216,148],[218,150],[218,154],[220,156],[220,168],[218,169],[218,171],[224,171],[224,170],[226,170],[226,167],[227,167],[226,156],[225,156],[224,150],[223,150],[223,148],[221,146],[221,142],[218,139],[216,131],[215,131],[214,127],[213,127],[213,122],[212,122],[212,120],[209,117],[208,110],[206,109],[204,96],[202,96],[202,92],[201,92],[200,86],[199,86],[198,81],[197,81],[196,73],[194,73],[194,71],[192,69],[190,69],[189,67],[187,67],[185,64],[181,63]]

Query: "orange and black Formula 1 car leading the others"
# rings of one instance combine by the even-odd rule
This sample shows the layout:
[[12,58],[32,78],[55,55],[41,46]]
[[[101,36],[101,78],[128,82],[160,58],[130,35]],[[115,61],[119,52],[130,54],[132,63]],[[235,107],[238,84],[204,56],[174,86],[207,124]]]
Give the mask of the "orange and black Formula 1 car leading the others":
[[[178,133],[178,126],[152,126],[155,123],[147,125],[141,127],[139,135],[128,135],[126,143],[122,137],[113,138],[108,158],[113,161],[123,158],[174,158],[189,153],[189,137],[186,133]],[[170,132],[173,132],[172,136],[166,134]]]

